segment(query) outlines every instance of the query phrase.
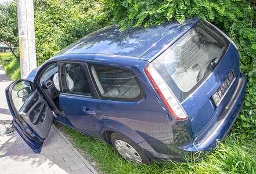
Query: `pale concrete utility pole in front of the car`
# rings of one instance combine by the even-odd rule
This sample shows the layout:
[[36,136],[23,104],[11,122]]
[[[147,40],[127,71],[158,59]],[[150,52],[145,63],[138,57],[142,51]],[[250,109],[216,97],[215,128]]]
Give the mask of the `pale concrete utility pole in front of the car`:
[[21,78],[37,67],[33,0],[17,0]]

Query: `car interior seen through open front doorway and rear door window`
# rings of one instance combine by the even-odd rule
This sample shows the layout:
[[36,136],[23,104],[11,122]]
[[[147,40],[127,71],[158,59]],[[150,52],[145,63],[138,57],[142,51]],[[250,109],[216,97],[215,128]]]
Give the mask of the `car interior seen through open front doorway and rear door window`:
[[[91,96],[84,64],[62,63],[61,67],[62,88],[64,93]],[[46,68],[39,79],[41,88],[46,96],[48,96],[49,102],[57,111],[62,113],[62,108],[59,104],[60,85],[58,72],[57,64],[53,64]]]

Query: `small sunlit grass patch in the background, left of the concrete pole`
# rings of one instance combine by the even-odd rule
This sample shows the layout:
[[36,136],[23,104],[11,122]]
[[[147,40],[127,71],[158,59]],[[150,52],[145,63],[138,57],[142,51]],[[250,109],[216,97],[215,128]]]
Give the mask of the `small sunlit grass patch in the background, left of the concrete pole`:
[[12,53],[0,53],[0,64],[3,65],[3,69],[9,79],[14,81],[20,78],[20,63]]

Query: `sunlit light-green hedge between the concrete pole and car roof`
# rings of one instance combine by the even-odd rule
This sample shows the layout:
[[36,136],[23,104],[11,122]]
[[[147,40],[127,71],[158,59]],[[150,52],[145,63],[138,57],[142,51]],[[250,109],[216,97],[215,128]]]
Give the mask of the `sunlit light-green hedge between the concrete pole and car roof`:
[[103,1],[35,1],[35,42],[38,65],[57,51],[111,21],[113,13]]

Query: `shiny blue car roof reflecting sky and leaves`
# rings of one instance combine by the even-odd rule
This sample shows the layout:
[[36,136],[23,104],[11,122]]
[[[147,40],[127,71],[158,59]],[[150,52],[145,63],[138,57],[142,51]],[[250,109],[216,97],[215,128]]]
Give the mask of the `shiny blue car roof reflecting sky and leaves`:
[[124,30],[120,30],[117,26],[108,26],[78,39],[56,56],[104,54],[150,61],[200,20],[200,18],[186,19],[180,24],[177,21],[167,21],[160,26],[129,27]]

